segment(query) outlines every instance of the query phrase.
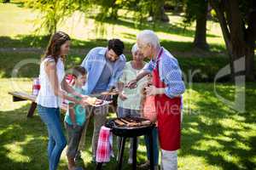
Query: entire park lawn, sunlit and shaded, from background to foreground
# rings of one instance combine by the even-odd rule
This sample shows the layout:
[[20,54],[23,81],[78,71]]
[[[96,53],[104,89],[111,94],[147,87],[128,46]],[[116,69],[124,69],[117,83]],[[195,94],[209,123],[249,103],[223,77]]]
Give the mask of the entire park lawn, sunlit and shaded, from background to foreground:
[[[9,91],[31,91],[32,77],[38,77],[38,63],[49,38],[44,32],[34,35],[32,20],[37,12],[25,8],[22,3],[0,3],[0,169],[43,170],[48,168],[47,131],[38,114],[26,118],[29,102],[12,102]],[[7,17],[8,16],[8,17]],[[79,18],[79,17],[80,18]],[[256,167],[256,82],[247,83],[245,88],[245,112],[238,112],[225,105],[215,94],[213,78],[229,63],[224,50],[224,40],[218,23],[208,21],[207,42],[209,51],[194,49],[195,26],[184,30],[182,17],[169,14],[170,23],[136,26],[131,16],[119,20],[105,20],[101,26],[90,18],[76,13],[59,26],[72,37],[72,50],[67,57],[66,68],[79,65],[90,48],[106,46],[107,40],[119,37],[125,41],[125,55],[131,59],[131,45],[142,29],[154,29],[161,44],[169,49],[189,79],[189,73],[199,71],[192,84],[187,83],[184,94],[182,149],[178,151],[178,168],[185,169],[255,169]],[[95,29],[97,28],[97,29]],[[103,34],[102,34],[103,32]],[[20,68],[12,77],[20,61],[30,59],[33,63]],[[236,87],[231,83],[218,83],[217,93],[224,99],[234,100]],[[63,120],[64,114],[61,114]],[[115,116],[109,113],[109,117]],[[83,151],[81,166],[94,169],[91,163],[93,124],[90,122]],[[114,145],[116,145],[114,139]],[[116,148],[114,148],[116,150]],[[125,169],[128,146],[125,149]],[[137,150],[137,161],[146,160],[143,139]],[[112,159],[104,169],[113,169]],[[65,151],[61,156],[59,169],[67,169]]]

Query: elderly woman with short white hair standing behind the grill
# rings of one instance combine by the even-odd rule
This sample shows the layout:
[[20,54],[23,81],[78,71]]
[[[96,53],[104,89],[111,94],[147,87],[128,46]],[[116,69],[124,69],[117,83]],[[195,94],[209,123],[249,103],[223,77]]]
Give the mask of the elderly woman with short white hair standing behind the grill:
[[[143,54],[141,54],[137,48],[137,44],[133,45],[131,48],[132,60],[126,62],[123,71],[123,76],[120,77],[118,82],[119,89],[119,99],[117,116],[127,117],[127,116],[140,116],[140,101],[142,99],[141,90],[143,85],[147,82],[147,78],[137,82],[137,88],[125,88],[125,84],[137,77],[137,74],[143,69],[146,64],[143,61]],[[131,141],[132,142],[132,141]],[[132,163],[132,144],[130,147],[130,156],[128,163]]]

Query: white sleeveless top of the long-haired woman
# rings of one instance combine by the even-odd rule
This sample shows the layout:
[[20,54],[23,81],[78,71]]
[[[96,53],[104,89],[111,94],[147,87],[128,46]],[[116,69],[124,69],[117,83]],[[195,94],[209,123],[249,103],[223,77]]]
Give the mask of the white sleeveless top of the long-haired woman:
[[[49,57],[45,58],[40,65],[40,75],[39,75],[40,90],[39,90],[38,97],[36,99],[36,103],[44,107],[58,108],[62,103],[62,99],[58,96],[55,96],[54,89],[51,86],[49,82],[49,77],[45,72],[45,62],[51,61],[51,60],[54,60],[54,59]],[[57,72],[57,79],[60,85],[61,81],[65,77],[64,64],[61,58],[57,60],[56,72]]]

